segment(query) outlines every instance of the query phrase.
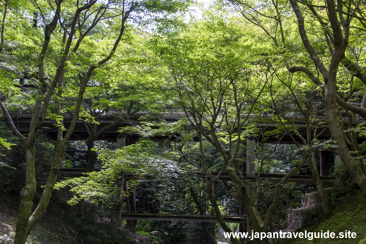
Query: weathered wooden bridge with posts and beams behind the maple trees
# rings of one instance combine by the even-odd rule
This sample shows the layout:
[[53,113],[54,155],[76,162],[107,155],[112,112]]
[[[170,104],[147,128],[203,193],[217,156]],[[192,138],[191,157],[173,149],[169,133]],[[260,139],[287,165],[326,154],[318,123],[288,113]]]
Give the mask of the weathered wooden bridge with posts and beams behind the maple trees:
[[[144,115],[146,113],[139,112],[136,114],[136,117],[133,123],[138,123],[138,117],[141,115]],[[27,133],[29,129],[29,123],[31,119],[31,114],[22,113],[22,114],[11,114],[11,117],[13,118],[13,121],[15,123],[15,126],[18,128],[19,132],[21,133]],[[180,113],[162,113],[162,118],[164,118],[168,123],[173,123],[178,121],[182,117],[182,114]],[[270,117],[270,115],[269,115]],[[294,126],[298,128],[299,133],[302,136],[306,136],[307,134],[307,126],[305,124],[305,120],[301,118],[301,116],[284,116],[285,119],[288,119],[288,121],[294,122]],[[348,124],[348,120],[346,119]],[[295,120],[295,121],[293,121]],[[114,120],[111,117],[106,117],[98,122],[100,122],[100,125],[98,125],[99,128],[104,127],[110,123],[112,123]],[[64,126],[66,128],[69,127],[71,122],[71,118],[65,118],[64,119]],[[354,126],[358,125],[360,120],[354,120]],[[5,123],[7,123],[7,120],[5,120]],[[55,137],[57,133],[57,128],[53,125],[55,121],[46,119],[44,123],[44,127],[41,130],[41,133],[47,133],[48,136]],[[115,127],[112,127],[104,134],[101,134],[98,137],[98,140],[107,140],[107,141],[116,141],[117,147],[123,147],[126,145],[126,140],[128,144],[133,143],[134,140],[138,138],[138,135],[135,136],[129,136],[129,138],[126,138],[125,136],[122,136],[117,131],[120,127],[124,126],[130,126],[131,123],[123,122],[120,125],[116,125]],[[275,130],[279,125],[275,123],[271,123],[267,120],[267,118],[262,118],[261,122],[257,123],[257,126],[264,129],[265,131],[271,131]],[[87,133],[86,127],[83,124],[83,122],[78,121],[76,123],[74,132],[72,134],[71,140],[86,140],[86,138],[89,136]],[[295,138],[297,138],[298,142],[302,144],[302,141],[294,135]],[[329,139],[330,131],[329,129],[326,129],[324,133],[322,133],[322,136],[319,139]],[[154,137],[151,138],[152,140],[161,141],[161,140],[176,140],[177,138],[173,138],[172,136],[161,136],[161,137]],[[366,137],[359,137],[360,141],[365,141]],[[273,143],[277,142],[277,138],[268,138],[266,139],[267,143]],[[246,152],[246,158],[247,162],[243,164],[243,173],[242,177],[244,179],[253,179],[257,177],[258,174],[255,173],[255,163],[254,163],[254,155],[252,154],[253,146],[255,140],[254,138],[247,138],[247,152]],[[285,144],[292,144],[293,141],[290,136],[285,136],[281,143]],[[324,185],[328,184],[329,182],[334,182],[335,178],[328,176],[328,169],[329,169],[329,161],[331,160],[328,156],[329,152],[321,151],[320,155],[320,175],[321,175],[321,181]],[[335,155],[334,157],[334,163],[337,164],[340,162],[339,156]],[[46,171],[46,170],[45,170]],[[59,173],[63,174],[64,176],[69,177],[79,177],[82,175],[82,173],[85,172],[85,169],[60,169]],[[213,175],[217,174],[217,172],[212,172]],[[133,177],[133,175],[128,175],[126,173],[126,177]],[[202,177],[202,172],[197,172],[195,175],[191,175],[191,177]],[[279,182],[284,177],[284,174],[261,174],[260,178],[262,180],[269,180],[272,182]],[[230,177],[227,173],[223,173],[220,178],[220,180],[223,181],[230,181]],[[293,175],[288,179],[288,182],[295,182],[296,184],[303,184],[303,185],[314,185],[314,180],[311,175]],[[126,182],[128,183],[128,182]],[[128,191],[128,185],[124,185],[123,189]],[[127,213],[122,214],[122,218],[127,220],[127,229],[130,229],[132,232],[135,231],[137,219],[146,219],[146,220],[161,220],[161,221],[202,221],[202,222],[218,222],[216,216],[207,216],[207,215],[174,215],[174,214],[145,214],[145,213],[137,213],[136,212],[136,195],[134,194],[134,191],[131,191],[130,189],[130,196],[124,197],[122,199],[123,202],[126,203],[126,206],[123,206],[124,210],[127,210]],[[249,193],[250,194],[250,193]],[[245,210],[243,206],[240,206],[240,216],[243,216],[245,214]],[[234,222],[234,223],[240,223],[239,225],[239,231],[249,231],[249,229],[246,228],[245,220],[241,217],[224,217],[225,222]]]

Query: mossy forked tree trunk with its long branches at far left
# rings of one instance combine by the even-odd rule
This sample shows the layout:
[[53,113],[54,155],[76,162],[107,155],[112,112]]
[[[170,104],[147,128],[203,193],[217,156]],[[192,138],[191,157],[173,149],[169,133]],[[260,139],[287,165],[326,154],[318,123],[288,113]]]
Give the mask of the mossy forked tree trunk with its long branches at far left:
[[[74,118],[72,119],[70,127],[67,130],[66,135],[64,137],[62,136],[62,132],[60,132],[61,127],[59,126],[59,130],[57,132],[58,145],[57,145],[56,155],[55,155],[55,158],[53,159],[53,163],[52,163],[50,174],[49,174],[49,177],[47,180],[47,184],[45,185],[44,191],[42,193],[40,203],[38,204],[38,206],[37,206],[36,210],[33,212],[33,214],[31,214],[32,200],[34,197],[34,193],[36,192],[36,180],[35,180],[35,169],[34,169],[34,157],[35,157],[34,141],[36,138],[36,133],[37,133],[38,129],[44,123],[44,120],[45,120],[45,117],[46,117],[46,114],[48,111],[49,102],[54,93],[57,82],[59,82],[59,78],[60,78],[61,72],[64,68],[65,62],[67,61],[70,46],[71,46],[71,43],[73,40],[72,37],[74,36],[74,33],[75,33],[75,25],[79,18],[79,14],[82,11],[91,8],[91,6],[96,3],[96,0],[90,1],[90,3],[85,4],[82,7],[79,7],[76,9],[74,19],[72,20],[71,29],[70,29],[71,31],[68,36],[67,44],[64,47],[64,52],[63,52],[64,54],[61,57],[60,63],[56,70],[56,74],[53,77],[53,81],[51,82],[51,84],[47,85],[47,82],[45,81],[44,58],[45,58],[45,55],[47,52],[48,44],[51,41],[51,34],[52,34],[53,30],[56,29],[57,22],[60,19],[61,3],[62,3],[62,1],[56,1],[57,7],[56,7],[56,10],[54,11],[55,14],[53,15],[53,19],[52,19],[51,23],[47,24],[45,27],[45,40],[42,45],[42,51],[38,58],[38,67],[39,67],[38,75],[39,75],[39,81],[41,83],[40,91],[38,92],[38,95],[40,95],[40,96],[39,96],[39,99],[36,100],[33,115],[32,115],[31,121],[30,121],[29,133],[28,133],[27,138],[25,138],[16,129],[16,127],[14,126],[14,123],[12,122],[10,115],[8,114],[7,109],[4,107],[3,103],[1,103],[1,101],[0,101],[0,107],[3,110],[3,112],[5,113],[5,115],[7,116],[8,121],[10,122],[10,125],[11,125],[14,133],[26,144],[26,185],[22,189],[22,192],[21,192],[21,202],[20,202],[20,206],[19,206],[18,219],[16,222],[16,234],[15,234],[15,240],[14,240],[15,244],[24,244],[26,242],[27,234],[30,233],[30,230],[34,227],[34,225],[39,221],[39,219],[44,214],[44,212],[48,206],[49,199],[51,197],[52,190],[53,190],[53,187],[54,187],[56,179],[57,179],[57,173],[58,173],[64,152],[65,152],[66,142],[70,138],[72,131],[74,130],[74,127],[76,125],[76,121],[79,118],[79,109],[80,109],[80,105],[81,105],[81,102],[83,99],[83,94],[86,89],[87,82],[89,81],[91,73],[93,72],[93,70],[95,68],[100,67],[101,65],[108,62],[112,58],[112,56],[115,53],[116,48],[122,38],[122,35],[124,33],[124,23],[126,22],[130,13],[132,11],[134,11],[134,9],[135,9],[135,5],[131,4],[131,7],[124,12],[119,36],[117,37],[116,41],[114,42],[113,48],[109,52],[108,56],[101,59],[99,62],[93,63],[89,66],[89,69],[87,70],[87,73],[83,79],[82,85],[81,85],[79,93],[78,93]],[[75,51],[76,51],[76,49],[75,49]],[[74,53],[75,53],[75,51],[74,51]],[[60,87],[60,89],[62,89],[62,88]],[[55,103],[57,104],[57,100],[55,101]],[[42,107],[42,104],[43,104],[43,107]]]

